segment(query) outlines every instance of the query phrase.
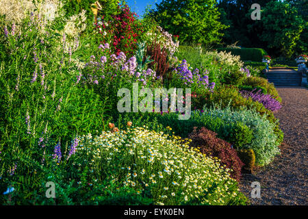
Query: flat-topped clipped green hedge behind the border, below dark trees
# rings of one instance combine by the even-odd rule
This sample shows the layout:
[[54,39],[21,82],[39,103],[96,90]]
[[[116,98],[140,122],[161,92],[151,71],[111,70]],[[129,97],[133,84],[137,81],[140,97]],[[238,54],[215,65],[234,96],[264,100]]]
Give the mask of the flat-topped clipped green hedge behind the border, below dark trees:
[[253,61],[253,62],[261,62],[264,55],[268,55],[264,49],[260,48],[242,48],[242,49],[231,49],[231,48],[224,48],[224,49],[217,49],[218,52],[220,51],[227,51],[228,53],[231,52],[232,55],[240,55],[241,60],[243,61]]

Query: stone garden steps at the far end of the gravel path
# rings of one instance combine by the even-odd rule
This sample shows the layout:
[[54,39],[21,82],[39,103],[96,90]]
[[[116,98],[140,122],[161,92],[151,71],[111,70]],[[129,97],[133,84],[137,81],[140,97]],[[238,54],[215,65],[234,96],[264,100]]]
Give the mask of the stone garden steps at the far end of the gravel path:
[[290,68],[270,69],[266,76],[274,86],[300,86],[302,81],[300,73]]

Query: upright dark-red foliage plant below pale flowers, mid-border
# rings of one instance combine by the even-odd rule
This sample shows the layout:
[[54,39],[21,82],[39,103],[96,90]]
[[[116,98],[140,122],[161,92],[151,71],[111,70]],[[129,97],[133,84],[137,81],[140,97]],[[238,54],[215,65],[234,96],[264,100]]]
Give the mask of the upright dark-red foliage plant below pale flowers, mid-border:
[[156,76],[160,76],[164,79],[169,69],[168,53],[166,49],[161,48],[159,43],[153,42],[147,47],[146,53],[151,56],[151,60],[154,60],[154,62],[149,64],[149,67],[153,69],[154,66],[156,66]]

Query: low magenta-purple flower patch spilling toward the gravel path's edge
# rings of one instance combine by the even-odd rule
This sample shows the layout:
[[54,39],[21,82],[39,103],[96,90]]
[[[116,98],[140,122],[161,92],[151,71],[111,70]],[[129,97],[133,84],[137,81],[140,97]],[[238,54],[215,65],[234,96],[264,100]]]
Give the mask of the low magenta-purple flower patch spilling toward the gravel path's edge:
[[274,99],[272,95],[270,94],[262,94],[261,90],[258,90],[256,92],[256,89],[249,91],[249,90],[241,90],[240,94],[244,96],[246,99],[250,98],[253,99],[253,101],[258,101],[259,103],[262,103],[264,107],[268,110],[276,111],[281,108],[281,103],[277,101],[277,99]]

